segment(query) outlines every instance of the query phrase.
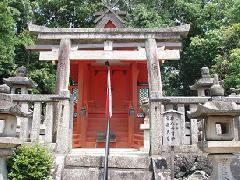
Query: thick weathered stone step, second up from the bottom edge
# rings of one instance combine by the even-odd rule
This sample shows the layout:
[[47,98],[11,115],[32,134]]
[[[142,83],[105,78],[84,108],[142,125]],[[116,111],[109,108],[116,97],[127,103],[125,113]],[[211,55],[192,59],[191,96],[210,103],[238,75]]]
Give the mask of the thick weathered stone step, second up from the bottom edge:
[[[65,158],[65,167],[95,167],[100,168],[104,165],[104,155],[101,154],[69,154]],[[109,168],[123,169],[149,169],[151,159],[147,155],[111,155],[109,156]]]

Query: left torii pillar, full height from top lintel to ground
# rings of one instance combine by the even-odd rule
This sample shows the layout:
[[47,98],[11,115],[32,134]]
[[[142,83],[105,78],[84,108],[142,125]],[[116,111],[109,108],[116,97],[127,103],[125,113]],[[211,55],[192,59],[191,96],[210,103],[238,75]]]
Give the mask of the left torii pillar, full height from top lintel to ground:
[[69,116],[71,116],[71,104],[69,103],[70,92],[69,76],[70,76],[70,51],[71,51],[71,40],[61,39],[60,48],[58,54],[58,65],[57,65],[57,77],[56,77],[56,94],[64,97],[63,100],[56,104],[55,108],[55,121],[53,122],[54,132],[53,135],[56,137],[56,152],[67,153],[69,151]]

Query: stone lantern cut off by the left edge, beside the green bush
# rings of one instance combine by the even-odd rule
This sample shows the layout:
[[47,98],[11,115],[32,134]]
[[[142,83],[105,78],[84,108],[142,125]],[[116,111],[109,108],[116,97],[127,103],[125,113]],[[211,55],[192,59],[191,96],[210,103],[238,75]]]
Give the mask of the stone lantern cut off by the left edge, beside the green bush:
[[11,154],[12,148],[22,144],[17,138],[17,116],[27,117],[21,112],[18,105],[14,105],[7,85],[0,86],[0,179],[7,179],[6,157]]

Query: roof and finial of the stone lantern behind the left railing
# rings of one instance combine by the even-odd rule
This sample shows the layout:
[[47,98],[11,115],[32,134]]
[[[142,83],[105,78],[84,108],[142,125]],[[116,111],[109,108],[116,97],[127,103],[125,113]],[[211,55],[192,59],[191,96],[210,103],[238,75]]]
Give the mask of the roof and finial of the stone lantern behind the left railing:
[[15,77],[3,78],[3,82],[8,86],[24,86],[27,88],[34,88],[36,85],[27,77],[26,67],[19,67]]

